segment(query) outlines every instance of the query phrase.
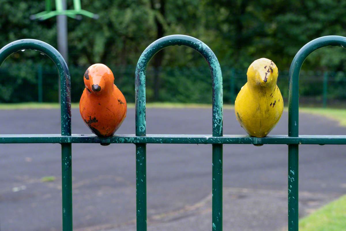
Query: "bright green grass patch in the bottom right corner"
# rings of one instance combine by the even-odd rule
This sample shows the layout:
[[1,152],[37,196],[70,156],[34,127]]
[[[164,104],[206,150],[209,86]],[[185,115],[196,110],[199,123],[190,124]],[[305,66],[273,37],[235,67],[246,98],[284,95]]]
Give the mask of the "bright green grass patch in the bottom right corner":
[[299,221],[299,231],[345,231],[346,195]]

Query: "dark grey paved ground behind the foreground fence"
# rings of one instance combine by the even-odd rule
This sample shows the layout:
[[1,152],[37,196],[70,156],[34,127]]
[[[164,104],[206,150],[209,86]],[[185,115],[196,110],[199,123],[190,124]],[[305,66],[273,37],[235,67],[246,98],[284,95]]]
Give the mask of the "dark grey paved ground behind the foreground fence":
[[[0,133],[60,133],[58,110],[0,111]],[[245,134],[224,111],[224,134]],[[77,109],[72,132],[90,133]],[[301,134],[346,134],[323,117],[300,115]],[[134,109],[118,133],[134,133]],[[211,109],[154,109],[147,133],[211,134]],[[271,134],[287,134],[287,113]],[[59,144],[0,145],[0,228],[61,230]],[[75,230],[135,230],[135,145],[74,144]],[[301,145],[300,214],[346,193],[340,145]],[[211,145],[147,146],[148,230],[211,230]],[[42,183],[45,176],[53,182]],[[224,146],[224,230],[284,230],[287,146]]]

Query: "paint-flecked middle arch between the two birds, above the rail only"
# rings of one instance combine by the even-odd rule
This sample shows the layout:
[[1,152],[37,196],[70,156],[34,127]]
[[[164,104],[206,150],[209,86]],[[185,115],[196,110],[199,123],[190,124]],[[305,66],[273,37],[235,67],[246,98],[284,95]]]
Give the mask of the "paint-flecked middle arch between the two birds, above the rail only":
[[146,97],[145,76],[152,57],[168,46],[183,45],[198,51],[208,62],[212,78],[212,132],[213,136],[222,136],[223,93],[222,73],[219,61],[214,52],[197,38],[186,35],[169,35],[150,44],[139,57],[135,73],[136,135],[146,135]]

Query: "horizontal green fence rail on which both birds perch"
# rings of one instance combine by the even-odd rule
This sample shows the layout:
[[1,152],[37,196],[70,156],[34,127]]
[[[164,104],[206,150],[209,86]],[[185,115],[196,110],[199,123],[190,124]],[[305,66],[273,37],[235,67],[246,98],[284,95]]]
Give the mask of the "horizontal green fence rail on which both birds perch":
[[300,135],[291,137],[287,135],[268,135],[263,138],[248,135],[169,135],[148,134],[136,136],[135,134],[114,135],[101,138],[93,134],[26,134],[26,135],[0,135],[0,143],[149,143],[149,144],[346,144],[346,135]]

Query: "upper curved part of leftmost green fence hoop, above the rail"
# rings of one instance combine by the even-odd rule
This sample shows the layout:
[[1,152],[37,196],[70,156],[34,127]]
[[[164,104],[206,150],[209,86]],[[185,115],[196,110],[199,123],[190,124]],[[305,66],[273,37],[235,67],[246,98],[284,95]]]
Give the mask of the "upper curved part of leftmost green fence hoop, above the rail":
[[61,134],[71,135],[71,77],[62,55],[48,43],[36,39],[20,39],[7,44],[0,50],[0,66],[11,54],[36,50],[47,55],[56,65],[60,75]]

